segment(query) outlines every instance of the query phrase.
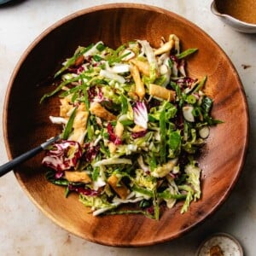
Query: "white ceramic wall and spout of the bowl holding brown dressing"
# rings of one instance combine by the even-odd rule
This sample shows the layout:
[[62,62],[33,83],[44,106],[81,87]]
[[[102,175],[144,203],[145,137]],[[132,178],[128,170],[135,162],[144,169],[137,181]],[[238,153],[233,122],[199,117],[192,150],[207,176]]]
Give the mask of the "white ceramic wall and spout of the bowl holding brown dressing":
[[217,15],[220,20],[233,27],[236,31],[244,33],[256,33],[256,24],[247,23],[241,20],[237,20],[230,15],[219,13],[215,1],[213,1],[211,4],[211,11],[213,15]]

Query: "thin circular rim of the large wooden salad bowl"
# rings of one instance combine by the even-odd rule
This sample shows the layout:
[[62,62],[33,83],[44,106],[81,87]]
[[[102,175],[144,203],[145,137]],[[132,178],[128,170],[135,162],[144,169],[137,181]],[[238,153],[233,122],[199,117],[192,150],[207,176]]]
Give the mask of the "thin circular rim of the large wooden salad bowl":
[[[233,71],[234,75],[236,76],[237,81],[239,82],[239,87],[240,87],[241,94],[242,94],[242,97],[243,97],[243,103],[244,103],[245,108],[246,108],[247,122],[245,124],[245,130],[246,130],[247,136],[245,137],[245,140],[244,140],[244,145],[243,145],[242,154],[241,154],[242,155],[241,160],[239,161],[239,164],[237,165],[239,167],[238,167],[238,170],[236,172],[236,177],[233,177],[232,183],[231,183],[229,189],[227,189],[225,191],[224,195],[222,195],[222,198],[220,198],[220,200],[218,201],[218,204],[215,207],[212,207],[211,211],[207,212],[207,215],[204,218],[201,218],[199,221],[196,221],[194,224],[189,225],[189,227],[184,228],[182,231],[179,231],[175,236],[172,236],[171,239],[170,239],[170,237],[166,237],[164,239],[160,239],[160,240],[157,240],[157,241],[144,241],[143,243],[132,243],[132,244],[131,243],[126,243],[126,244],[123,243],[123,244],[114,244],[113,245],[113,243],[108,243],[106,241],[97,241],[97,240],[91,240],[90,238],[86,238],[86,240],[88,240],[88,241],[96,242],[96,243],[99,243],[99,244],[102,244],[102,245],[107,245],[107,246],[114,246],[114,247],[143,247],[143,246],[149,246],[149,245],[163,243],[163,242],[166,242],[166,241],[171,241],[173,239],[176,239],[178,237],[181,237],[181,236],[187,234],[190,230],[195,229],[195,227],[198,226],[198,224],[201,224],[207,218],[210,218],[214,212],[217,212],[218,208],[221,207],[223,205],[224,201],[227,200],[227,198],[229,197],[232,189],[234,189],[234,186],[236,185],[237,180],[240,177],[242,167],[244,166],[244,163],[245,163],[245,160],[246,160],[246,154],[247,154],[248,139],[249,139],[249,115],[248,115],[247,99],[246,99],[246,96],[245,96],[245,91],[244,91],[243,86],[241,84],[241,79],[240,79],[238,73],[236,72],[236,68],[235,68],[234,64],[230,61],[229,56],[226,55],[224,50],[216,43],[216,41],[214,39],[212,39],[212,37],[210,35],[207,34],[207,32],[202,30],[201,27],[195,25],[194,22],[184,18],[182,15],[177,15],[176,13],[174,13],[171,10],[168,10],[168,9],[163,9],[163,8],[160,8],[160,7],[157,7],[157,6],[154,6],[154,5],[148,5],[148,4],[143,4],[143,3],[106,3],[106,4],[96,5],[96,6],[93,6],[93,7],[90,7],[90,8],[80,9],[78,11],[75,11],[70,15],[64,16],[63,18],[61,18],[61,20],[55,21],[52,25],[50,25],[49,27],[44,29],[44,31],[41,32],[38,35],[38,37],[36,37],[32,41],[32,43],[29,44],[29,46],[26,48],[26,50],[22,53],[22,55],[20,56],[20,60],[15,65],[15,69],[14,69],[14,71],[11,74],[11,77],[9,79],[9,84],[8,84],[8,88],[6,90],[6,96],[4,98],[4,103],[3,103],[3,137],[4,137],[5,148],[6,148],[6,151],[7,151],[7,154],[8,154],[8,158],[9,158],[9,160],[11,160],[13,158],[13,155],[12,155],[12,152],[11,152],[11,148],[9,147],[8,125],[7,125],[8,106],[9,106],[9,101],[10,101],[9,97],[10,97],[10,92],[12,90],[12,84],[14,84],[15,77],[19,73],[20,67],[22,66],[22,63],[26,60],[26,57],[32,52],[34,47],[36,47],[37,44],[39,44],[39,42],[44,37],[46,37],[50,32],[53,32],[59,26],[62,26],[64,23],[66,23],[70,20],[73,20],[74,18],[77,18],[79,16],[87,15],[87,14],[98,12],[98,11],[102,11],[104,9],[142,9],[142,10],[146,9],[146,10],[152,10],[152,11],[155,11],[157,13],[164,14],[164,15],[172,15],[175,18],[177,18],[177,20],[182,20],[182,21],[189,22],[189,26],[194,27],[195,30],[201,32],[205,37],[209,38],[212,41],[212,44],[215,44],[216,47],[224,54],[224,56],[226,58],[226,61],[228,61],[230,67],[232,68],[232,71]],[[38,207],[38,209],[40,209],[40,211],[44,212],[44,215],[46,215],[49,219],[51,219],[55,224],[58,224],[64,230],[68,230],[67,226],[65,226],[65,224],[62,224],[61,221],[59,221],[55,217],[51,216],[49,214],[49,212],[47,212],[44,209],[44,207],[40,206],[38,201],[36,201],[32,197],[32,195],[26,189],[26,185],[22,182],[22,179],[20,178],[19,172],[14,172],[14,173],[15,173],[16,179],[18,180],[18,183],[20,184],[20,187],[25,191],[26,195]],[[81,236],[80,234],[77,234],[77,233],[75,233],[71,230],[68,230],[68,231],[72,232],[73,235],[75,235],[75,236],[79,236],[79,237],[85,239],[84,236]]]

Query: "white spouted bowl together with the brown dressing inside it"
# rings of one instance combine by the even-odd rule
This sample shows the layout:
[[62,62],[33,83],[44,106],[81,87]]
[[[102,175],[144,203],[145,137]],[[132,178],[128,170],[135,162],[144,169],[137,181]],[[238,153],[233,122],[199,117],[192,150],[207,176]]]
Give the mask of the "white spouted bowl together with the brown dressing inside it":
[[238,32],[256,33],[255,0],[214,0],[211,10]]

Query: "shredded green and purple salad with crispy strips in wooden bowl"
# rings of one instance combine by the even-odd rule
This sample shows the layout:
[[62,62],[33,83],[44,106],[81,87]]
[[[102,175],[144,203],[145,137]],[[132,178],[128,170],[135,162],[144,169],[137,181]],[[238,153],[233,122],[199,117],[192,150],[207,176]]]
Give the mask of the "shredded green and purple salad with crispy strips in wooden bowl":
[[[181,201],[180,212],[201,198],[196,157],[206,143],[212,99],[207,76],[186,73],[179,38],[160,38],[154,49],[134,40],[112,49],[103,42],[79,46],[55,73],[61,140],[43,159],[49,182],[77,193],[94,216],[142,213],[159,219]],[[120,207],[122,206],[122,207]]]

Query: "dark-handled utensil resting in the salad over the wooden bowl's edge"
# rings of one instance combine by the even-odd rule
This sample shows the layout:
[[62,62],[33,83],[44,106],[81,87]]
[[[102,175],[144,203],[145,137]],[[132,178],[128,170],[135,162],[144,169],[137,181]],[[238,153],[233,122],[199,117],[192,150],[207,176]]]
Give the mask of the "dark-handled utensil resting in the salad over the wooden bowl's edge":
[[46,149],[51,143],[54,143],[59,138],[60,138],[60,136],[50,138],[45,143],[42,143],[40,146],[38,146],[36,148],[32,148],[29,151],[27,151],[26,153],[20,154],[15,159],[10,160],[9,162],[3,164],[3,166],[0,166],[0,177],[2,177],[7,172],[13,170],[16,166],[20,165],[24,161],[31,159],[33,156],[35,156],[39,152]]

